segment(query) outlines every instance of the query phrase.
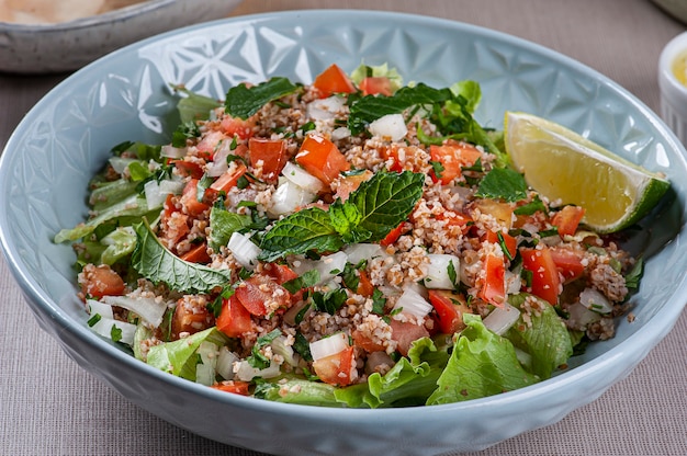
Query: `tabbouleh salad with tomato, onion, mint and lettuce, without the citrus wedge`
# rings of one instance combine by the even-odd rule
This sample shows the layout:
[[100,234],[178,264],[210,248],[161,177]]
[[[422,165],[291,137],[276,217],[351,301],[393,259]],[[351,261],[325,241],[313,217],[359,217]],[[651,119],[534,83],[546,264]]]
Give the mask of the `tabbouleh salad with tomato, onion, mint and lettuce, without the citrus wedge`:
[[473,81],[333,65],[176,90],[171,142],[115,147],[55,238],[88,324],[159,369],[293,403],[463,401],[566,368],[639,286],[584,207],[513,170]]

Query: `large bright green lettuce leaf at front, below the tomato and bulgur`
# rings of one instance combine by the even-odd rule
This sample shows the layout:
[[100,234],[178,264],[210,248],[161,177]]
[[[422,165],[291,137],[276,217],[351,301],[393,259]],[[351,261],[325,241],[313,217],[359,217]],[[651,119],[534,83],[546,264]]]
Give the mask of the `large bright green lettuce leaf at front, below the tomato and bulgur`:
[[539,381],[522,368],[510,341],[487,330],[478,316],[465,315],[464,322],[466,328],[458,337],[428,406],[498,395]]

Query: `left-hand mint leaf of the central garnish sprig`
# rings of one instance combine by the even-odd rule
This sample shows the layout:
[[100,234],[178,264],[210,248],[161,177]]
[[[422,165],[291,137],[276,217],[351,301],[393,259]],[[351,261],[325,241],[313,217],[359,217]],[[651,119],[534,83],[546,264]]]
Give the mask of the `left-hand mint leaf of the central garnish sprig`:
[[308,250],[336,251],[342,246],[344,241],[331,225],[329,214],[318,207],[311,207],[277,221],[262,237],[259,259],[274,261]]

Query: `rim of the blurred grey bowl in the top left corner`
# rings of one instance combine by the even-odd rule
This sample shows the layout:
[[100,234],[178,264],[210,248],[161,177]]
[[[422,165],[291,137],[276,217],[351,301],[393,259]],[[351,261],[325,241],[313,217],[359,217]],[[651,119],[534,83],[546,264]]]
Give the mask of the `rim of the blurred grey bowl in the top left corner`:
[[178,0],[145,0],[127,7],[117,8],[116,10],[106,11],[102,14],[89,15],[67,22],[24,24],[19,22],[0,21],[0,31],[4,33],[34,34],[42,32],[55,33],[68,30],[88,29],[110,22],[123,21],[142,13],[159,10],[171,3],[176,3],[177,1]]

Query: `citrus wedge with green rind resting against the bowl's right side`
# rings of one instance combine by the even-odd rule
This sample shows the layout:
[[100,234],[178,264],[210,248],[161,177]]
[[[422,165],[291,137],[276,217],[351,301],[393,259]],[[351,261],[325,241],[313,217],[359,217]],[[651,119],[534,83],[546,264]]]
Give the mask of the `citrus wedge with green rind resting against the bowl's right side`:
[[639,221],[671,186],[647,171],[562,125],[506,112],[505,146],[528,185],[551,202],[586,209],[583,223],[597,232]]

